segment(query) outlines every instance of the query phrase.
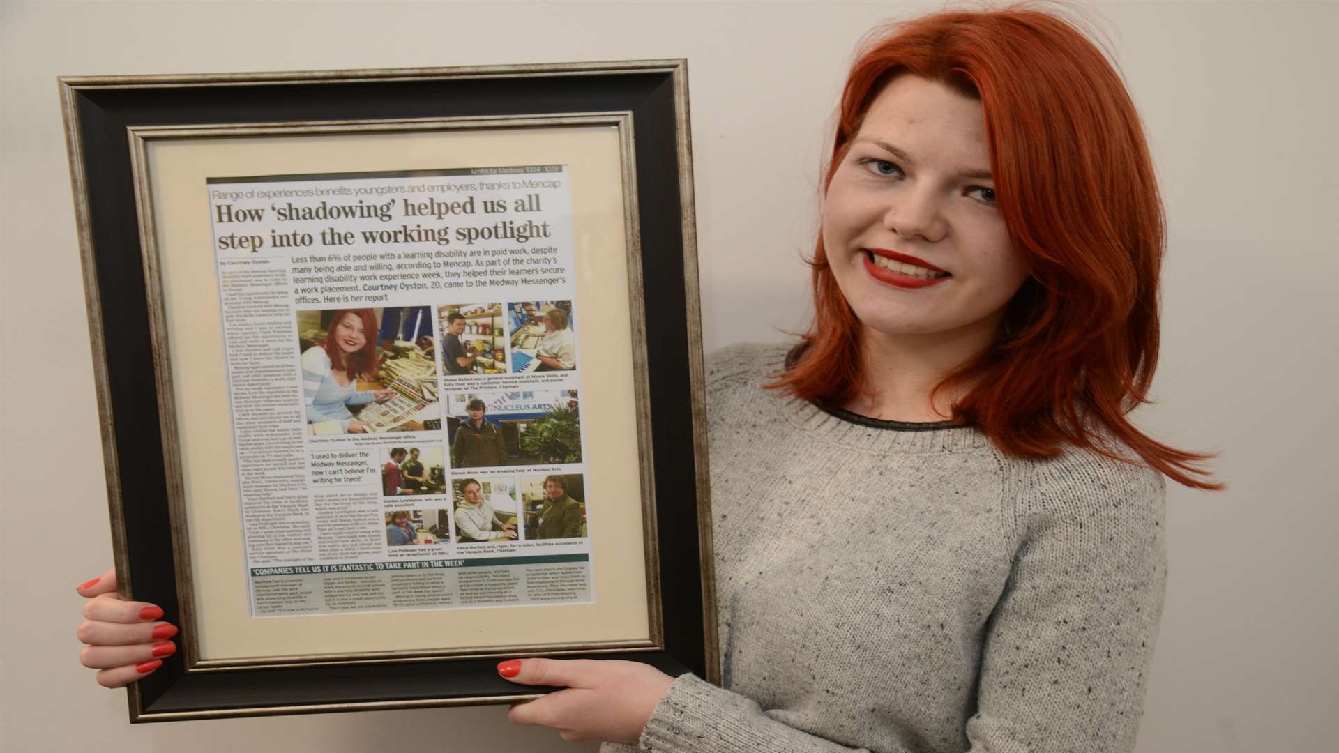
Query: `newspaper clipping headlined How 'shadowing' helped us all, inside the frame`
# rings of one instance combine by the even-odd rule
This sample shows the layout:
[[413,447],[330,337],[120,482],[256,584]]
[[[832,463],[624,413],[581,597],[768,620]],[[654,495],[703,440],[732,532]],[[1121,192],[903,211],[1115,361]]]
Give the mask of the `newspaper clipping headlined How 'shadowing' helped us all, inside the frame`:
[[568,167],[206,188],[252,615],[593,602]]

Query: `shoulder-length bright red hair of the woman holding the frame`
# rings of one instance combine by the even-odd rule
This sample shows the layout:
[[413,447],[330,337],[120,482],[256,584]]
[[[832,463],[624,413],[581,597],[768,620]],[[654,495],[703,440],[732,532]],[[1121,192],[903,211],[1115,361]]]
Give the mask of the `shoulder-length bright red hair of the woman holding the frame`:
[[[952,409],[1004,453],[1054,457],[1066,445],[1117,460],[1101,431],[1150,468],[1220,489],[1210,456],[1145,435],[1126,414],[1149,402],[1158,358],[1162,201],[1139,117],[1119,75],[1067,21],[1038,11],[940,12],[868,43],[842,92],[825,188],[882,87],[900,74],[981,102],[996,205],[1030,279],[1004,335],[935,387],[971,386]],[[860,320],[828,264],[811,261],[814,320],[769,385],[845,405],[869,393]]]

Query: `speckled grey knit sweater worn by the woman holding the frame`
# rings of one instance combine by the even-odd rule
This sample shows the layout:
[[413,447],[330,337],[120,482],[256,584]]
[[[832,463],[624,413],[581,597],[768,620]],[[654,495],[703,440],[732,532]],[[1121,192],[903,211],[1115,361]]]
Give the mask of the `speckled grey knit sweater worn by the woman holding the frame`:
[[1130,750],[1162,477],[826,413],[762,389],[786,348],[708,360],[724,689],[678,678],[641,748]]

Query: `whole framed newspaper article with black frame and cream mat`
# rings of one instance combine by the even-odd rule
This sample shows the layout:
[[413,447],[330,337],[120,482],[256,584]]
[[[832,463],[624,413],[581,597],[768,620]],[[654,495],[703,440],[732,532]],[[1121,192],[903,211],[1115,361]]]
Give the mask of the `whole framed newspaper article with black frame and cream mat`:
[[131,721],[718,679],[686,75],[60,80]]

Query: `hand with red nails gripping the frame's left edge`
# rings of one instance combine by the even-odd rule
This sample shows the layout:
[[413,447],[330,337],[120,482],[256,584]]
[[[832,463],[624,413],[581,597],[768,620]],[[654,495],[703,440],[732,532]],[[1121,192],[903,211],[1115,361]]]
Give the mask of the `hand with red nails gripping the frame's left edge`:
[[79,663],[98,670],[98,685],[123,687],[162,666],[177,653],[167,638],[177,627],[161,622],[163,611],[145,602],[123,602],[116,595],[116,568],[108,569],[79,586],[75,591],[88,599],[84,620],[79,623]]

